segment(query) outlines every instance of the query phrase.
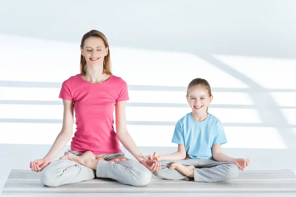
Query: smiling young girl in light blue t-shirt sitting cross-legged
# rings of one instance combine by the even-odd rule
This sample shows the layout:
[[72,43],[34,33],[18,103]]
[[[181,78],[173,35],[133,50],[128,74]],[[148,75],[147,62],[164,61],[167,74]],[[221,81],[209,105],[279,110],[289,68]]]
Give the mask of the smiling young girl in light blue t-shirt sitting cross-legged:
[[169,155],[146,156],[161,161],[161,169],[153,172],[164,179],[194,178],[196,182],[215,182],[233,179],[250,160],[234,159],[221,152],[227,142],[222,123],[208,113],[212,102],[210,84],[201,78],[193,79],[187,88],[186,99],[192,112],[181,118],[174,131],[173,143],[178,151]]

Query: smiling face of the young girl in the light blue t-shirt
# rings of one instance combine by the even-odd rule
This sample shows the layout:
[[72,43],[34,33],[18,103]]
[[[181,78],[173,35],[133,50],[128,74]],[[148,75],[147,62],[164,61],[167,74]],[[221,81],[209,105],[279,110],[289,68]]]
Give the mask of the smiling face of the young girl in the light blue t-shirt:
[[195,86],[188,90],[186,98],[192,112],[202,115],[207,113],[207,108],[212,102],[213,96],[210,97],[204,87]]

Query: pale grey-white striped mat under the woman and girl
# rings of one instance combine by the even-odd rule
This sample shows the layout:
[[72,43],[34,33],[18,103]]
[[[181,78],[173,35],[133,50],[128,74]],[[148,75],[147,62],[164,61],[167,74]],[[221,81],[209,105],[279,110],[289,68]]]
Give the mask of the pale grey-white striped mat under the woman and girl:
[[128,186],[111,179],[93,179],[50,188],[42,185],[39,173],[11,170],[2,196],[23,195],[295,195],[296,176],[292,170],[245,170],[238,178],[216,183],[163,180],[153,177],[144,187]]

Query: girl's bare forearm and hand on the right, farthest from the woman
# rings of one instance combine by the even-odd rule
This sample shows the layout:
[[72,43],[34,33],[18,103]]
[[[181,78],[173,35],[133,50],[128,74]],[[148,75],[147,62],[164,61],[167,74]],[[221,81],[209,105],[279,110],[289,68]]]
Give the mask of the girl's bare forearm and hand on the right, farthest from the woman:
[[236,164],[241,170],[244,170],[245,167],[248,166],[250,163],[249,159],[235,159],[223,154],[221,151],[221,144],[213,144],[212,155],[214,160],[216,160],[217,162],[233,163]]

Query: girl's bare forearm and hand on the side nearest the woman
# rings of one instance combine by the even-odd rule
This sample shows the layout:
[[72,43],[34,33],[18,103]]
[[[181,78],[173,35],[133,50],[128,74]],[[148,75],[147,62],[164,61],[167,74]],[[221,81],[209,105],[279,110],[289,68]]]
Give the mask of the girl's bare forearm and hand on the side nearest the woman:
[[156,161],[161,160],[184,160],[186,158],[186,149],[184,144],[178,144],[178,151],[175,153],[167,154],[167,155],[158,155],[154,152],[153,156],[146,156],[150,159],[155,159]]

